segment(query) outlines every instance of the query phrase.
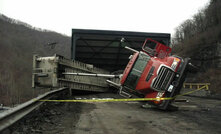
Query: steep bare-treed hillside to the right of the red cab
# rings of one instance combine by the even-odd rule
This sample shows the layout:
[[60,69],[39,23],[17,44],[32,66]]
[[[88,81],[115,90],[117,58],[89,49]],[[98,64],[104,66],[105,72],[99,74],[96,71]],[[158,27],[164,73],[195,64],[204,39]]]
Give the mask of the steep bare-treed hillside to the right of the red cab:
[[176,28],[173,53],[190,57],[199,72],[190,82],[209,82],[214,94],[221,94],[221,1],[210,0],[192,18]]

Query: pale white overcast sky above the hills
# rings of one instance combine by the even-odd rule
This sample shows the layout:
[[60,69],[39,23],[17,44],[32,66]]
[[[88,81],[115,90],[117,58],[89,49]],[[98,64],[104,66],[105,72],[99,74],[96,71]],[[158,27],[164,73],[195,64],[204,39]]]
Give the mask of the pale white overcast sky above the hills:
[[71,36],[71,29],[173,34],[209,0],[0,0],[0,13]]

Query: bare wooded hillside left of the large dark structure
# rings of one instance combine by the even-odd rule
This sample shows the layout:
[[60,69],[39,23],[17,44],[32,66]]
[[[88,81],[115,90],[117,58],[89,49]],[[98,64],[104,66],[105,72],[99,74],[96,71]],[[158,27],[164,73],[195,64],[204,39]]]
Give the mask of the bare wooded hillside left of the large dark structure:
[[[53,48],[50,43],[56,42]],[[31,89],[33,54],[70,57],[71,38],[34,28],[0,14],[0,104],[23,102],[39,92]]]

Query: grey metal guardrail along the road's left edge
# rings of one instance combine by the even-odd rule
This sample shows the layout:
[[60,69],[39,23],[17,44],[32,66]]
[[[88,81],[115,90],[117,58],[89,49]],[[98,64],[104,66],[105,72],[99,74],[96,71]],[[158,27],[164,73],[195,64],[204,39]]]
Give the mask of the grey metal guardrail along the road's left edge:
[[2,113],[0,115],[0,133],[44,103],[39,100],[50,99],[55,94],[63,92],[66,89],[68,88],[59,88],[57,90],[52,90]]

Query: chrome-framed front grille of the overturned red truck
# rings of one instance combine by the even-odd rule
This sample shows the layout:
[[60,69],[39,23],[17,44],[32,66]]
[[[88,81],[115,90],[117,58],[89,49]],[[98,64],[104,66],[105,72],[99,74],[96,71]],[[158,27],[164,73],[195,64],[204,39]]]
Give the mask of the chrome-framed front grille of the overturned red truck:
[[166,90],[169,84],[171,83],[173,77],[174,77],[174,72],[171,69],[162,66],[160,68],[157,78],[154,80],[152,84],[152,88],[157,91]]

